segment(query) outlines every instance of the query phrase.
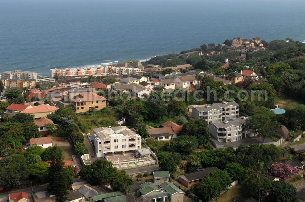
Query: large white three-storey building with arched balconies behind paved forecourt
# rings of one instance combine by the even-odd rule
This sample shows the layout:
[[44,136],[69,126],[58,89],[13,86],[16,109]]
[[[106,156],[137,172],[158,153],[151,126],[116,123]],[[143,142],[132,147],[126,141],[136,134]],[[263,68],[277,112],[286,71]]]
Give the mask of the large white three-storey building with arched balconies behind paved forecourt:
[[124,155],[126,151],[141,148],[141,136],[126,126],[94,128],[93,138],[96,157],[104,157],[110,152],[122,152]]

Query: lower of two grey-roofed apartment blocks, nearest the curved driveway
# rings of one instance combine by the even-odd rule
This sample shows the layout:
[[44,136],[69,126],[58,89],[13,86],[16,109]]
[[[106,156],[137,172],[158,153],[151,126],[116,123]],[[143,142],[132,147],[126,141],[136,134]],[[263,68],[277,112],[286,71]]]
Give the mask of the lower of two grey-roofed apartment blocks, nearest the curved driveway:
[[254,137],[255,131],[245,128],[247,118],[250,117],[240,117],[210,124],[210,134],[219,142],[236,142],[242,138]]

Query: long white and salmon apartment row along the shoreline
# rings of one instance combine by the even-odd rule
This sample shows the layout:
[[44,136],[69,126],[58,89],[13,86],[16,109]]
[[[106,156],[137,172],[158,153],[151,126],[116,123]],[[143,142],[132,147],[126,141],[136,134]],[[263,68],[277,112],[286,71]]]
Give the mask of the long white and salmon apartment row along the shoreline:
[[114,67],[114,66],[97,66],[97,67],[83,67],[83,68],[65,68],[65,69],[51,69],[50,78],[66,77],[66,76],[90,76],[90,75],[107,75],[109,72],[114,75],[134,74],[141,72],[139,68],[132,66],[128,67]]

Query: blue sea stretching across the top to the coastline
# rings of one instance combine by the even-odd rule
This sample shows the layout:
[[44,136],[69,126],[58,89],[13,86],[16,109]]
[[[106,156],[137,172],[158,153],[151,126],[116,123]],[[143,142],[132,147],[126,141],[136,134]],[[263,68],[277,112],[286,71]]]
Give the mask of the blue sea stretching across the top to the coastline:
[[305,40],[304,0],[0,0],[0,70],[145,60],[234,37]]

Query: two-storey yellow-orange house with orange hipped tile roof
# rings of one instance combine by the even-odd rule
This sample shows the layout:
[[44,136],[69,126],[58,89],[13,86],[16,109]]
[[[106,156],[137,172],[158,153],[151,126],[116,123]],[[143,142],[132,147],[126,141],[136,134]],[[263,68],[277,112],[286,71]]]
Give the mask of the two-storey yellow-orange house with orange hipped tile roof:
[[81,93],[74,97],[74,112],[87,112],[90,108],[101,110],[106,107],[106,98],[94,92]]

